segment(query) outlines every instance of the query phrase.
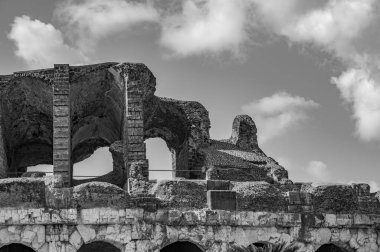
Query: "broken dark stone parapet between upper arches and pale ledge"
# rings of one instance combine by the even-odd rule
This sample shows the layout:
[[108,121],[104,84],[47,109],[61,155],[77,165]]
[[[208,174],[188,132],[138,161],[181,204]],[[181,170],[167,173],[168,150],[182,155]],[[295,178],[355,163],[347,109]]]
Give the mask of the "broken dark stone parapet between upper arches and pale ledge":
[[[57,178],[46,176],[0,180],[0,206],[52,209],[100,206],[146,207],[153,210],[207,209],[211,206],[210,202],[215,202],[207,198],[208,192],[213,191],[215,195],[225,192],[231,195],[231,200],[236,197],[234,205],[239,211],[380,214],[380,203],[375,195],[356,195],[353,187],[348,185],[137,179],[136,184],[132,184],[135,191],[129,193],[106,182],[88,182],[72,188],[56,188],[55,179]],[[145,184],[142,186],[139,183]],[[217,200],[217,204],[219,201],[222,202],[223,199]],[[215,204],[212,205],[211,209],[219,209]]]

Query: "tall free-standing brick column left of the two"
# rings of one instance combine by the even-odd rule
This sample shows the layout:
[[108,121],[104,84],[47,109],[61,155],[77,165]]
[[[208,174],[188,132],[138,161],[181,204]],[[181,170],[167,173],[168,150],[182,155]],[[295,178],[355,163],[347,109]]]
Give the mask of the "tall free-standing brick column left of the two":
[[56,187],[70,187],[72,180],[69,65],[54,65],[53,165]]

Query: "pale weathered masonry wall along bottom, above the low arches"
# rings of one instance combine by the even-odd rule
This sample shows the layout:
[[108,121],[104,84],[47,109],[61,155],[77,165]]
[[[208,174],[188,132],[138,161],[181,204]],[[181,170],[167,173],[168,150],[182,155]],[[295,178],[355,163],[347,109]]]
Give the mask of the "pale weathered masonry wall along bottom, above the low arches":
[[105,241],[121,252],[159,251],[190,241],[204,251],[230,251],[255,242],[300,241],[301,251],[348,243],[378,251],[380,215],[304,215],[249,211],[143,209],[1,209],[0,247],[21,243],[38,252],[77,251]]

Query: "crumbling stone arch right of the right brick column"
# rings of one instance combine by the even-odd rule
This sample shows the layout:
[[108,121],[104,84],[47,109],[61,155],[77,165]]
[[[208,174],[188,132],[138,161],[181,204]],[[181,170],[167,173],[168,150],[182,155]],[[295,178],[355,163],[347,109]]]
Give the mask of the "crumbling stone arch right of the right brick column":
[[[176,177],[202,178],[200,148],[210,140],[207,110],[198,102],[153,96],[144,101],[144,137],[161,137],[173,153]],[[186,170],[181,172],[180,170]]]

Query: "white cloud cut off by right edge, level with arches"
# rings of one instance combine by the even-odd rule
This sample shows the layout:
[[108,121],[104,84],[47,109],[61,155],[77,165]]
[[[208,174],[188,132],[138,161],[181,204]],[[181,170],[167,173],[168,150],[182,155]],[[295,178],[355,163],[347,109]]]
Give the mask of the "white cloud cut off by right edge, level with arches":
[[380,140],[380,85],[367,70],[349,69],[332,78],[342,98],[352,105],[356,134],[364,141]]

